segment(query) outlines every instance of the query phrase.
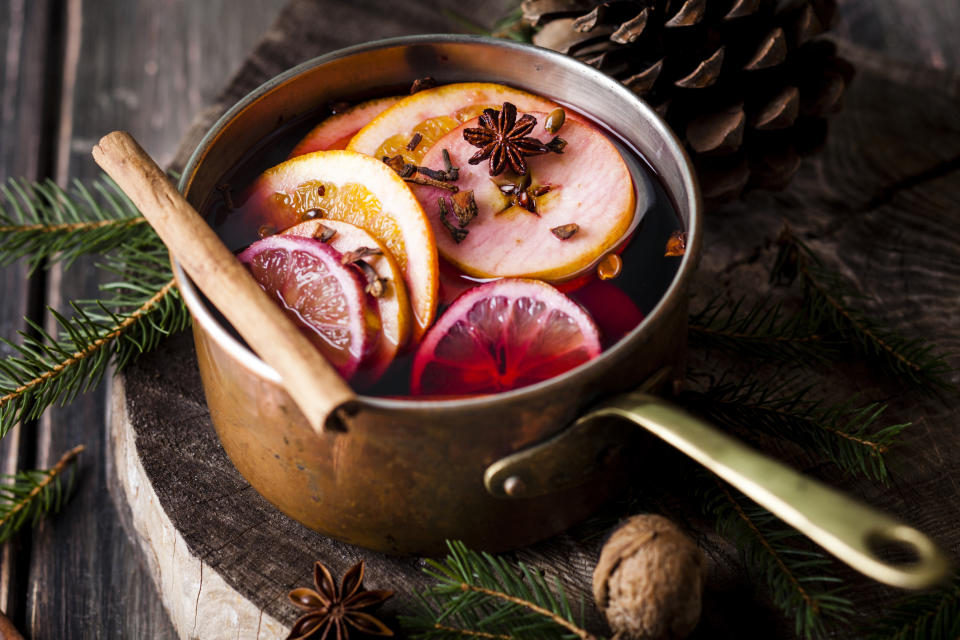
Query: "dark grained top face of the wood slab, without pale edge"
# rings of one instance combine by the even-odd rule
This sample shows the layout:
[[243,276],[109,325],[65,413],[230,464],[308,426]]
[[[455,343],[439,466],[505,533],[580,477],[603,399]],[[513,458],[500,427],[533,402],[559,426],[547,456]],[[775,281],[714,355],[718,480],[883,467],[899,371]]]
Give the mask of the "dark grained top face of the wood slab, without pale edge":
[[[922,61],[910,62],[909,57],[908,62],[898,62],[872,51],[869,34],[851,26],[858,15],[856,4],[841,7],[839,29],[857,38],[856,44],[841,41],[840,45],[860,74],[847,96],[845,111],[831,125],[827,147],[803,166],[787,190],[754,193],[707,220],[707,249],[694,305],[719,291],[731,297],[771,292],[767,273],[776,250],[774,240],[786,221],[854,279],[875,301],[873,311],[879,317],[907,335],[936,340],[943,351],[958,352],[960,224],[950,214],[960,208],[956,76],[918,66]],[[852,9],[845,13],[848,7]],[[928,8],[929,16],[918,12],[921,20],[951,11],[945,4],[931,3]],[[291,3],[231,82],[222,102],[229,103],[270,75],[322,53],[325,49],[318,41],[344,44],[337,37],[325,39],[319,29],[304,27],[329,15],[323,3]],[[887,27],[892,30],[897,25],[890,22]],[[377,35],[394,33],[393,28],[383,26]],[[366,37],[372,36],[367,33]],[[945,33],[936,38],[930,46],[949,48]],[[223,106],[212,107],[191,135],[208,126]],[[178,161],[183,161],[195,140],[188,136]],[[697,363],[697,356],[692,354],[695,364],[715,373],[725,366]],[[284,594],[309,584],[314,559],[324,560],[340,573],[363,557],[371,588],[403,591],[385,606],[389,619],[423,584],[418,563],[324,539],[279,515],[256,495],[216,442],[192,357],[189,338],[180,337],[141,359],[126,377],[126,407],[144,473],[190,552],[239,596],[287,624],[295,610],[285,604]],[[957,357],[953,364],[960,364]],[[954,557],[960,555],[956,516],[960,513],[956,482],[960,465],[955,453],[960,442],[953,430],[960,417],[960,401],[918,396],[878,380],[863,368],[840,367],[832,374],[821,374],[837,397],[863,392],[889,401],[894,407],[890,423],[919,418],[891,459],[897,474],[893,486],[853,482],[789,446],[778,445],[771,452],[920,527]],[[672,464],[677,462],[674,454],[659,453],[664,461],[659,469],[685,468]],[[169,464],[170,460],[177,463]],[[206,486],[198,487],[198,479]],[[704,621],[694,637],[791,637],[783,620],[754,599],[735,551],[709,532],[696,502],[684,495],[682,477],[664,471],[647,473],[644,481],[647,493],[655,496],[657,510],[697,531],[710,559]],[[574,598],[590,602],[589,576],[602,532],[617,515],[616,509],[601,514],[566,534],[517,552],[516,557],[559,576]],[[258,553],[265,545],[271,549],[268,557]],[[837,571],[850,579],[858,615],[864,619],[884,611],[900,595],[840,565]],[[595,613],[589,620],[602,629]]]

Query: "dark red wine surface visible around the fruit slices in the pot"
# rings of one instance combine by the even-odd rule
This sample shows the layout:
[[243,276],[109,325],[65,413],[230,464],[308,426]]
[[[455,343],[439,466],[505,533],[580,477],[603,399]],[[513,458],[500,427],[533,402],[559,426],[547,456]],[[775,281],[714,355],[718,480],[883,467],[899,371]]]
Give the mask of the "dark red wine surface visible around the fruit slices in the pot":
[[[382,95],[397,93],[406,93],[406,88]],[[356,102],[371,97],[375,96],[358,96]],[[569,109],[566,106],[564,108]],[[259,238],[259,229],[244,227],[236,222],[242,216],[237,215],[234,207],[242,208],[242,198],[247,188],[261,173],[286,160],[297,142],[330,115],[331,111],[324,108],[282,126],[250,149],[218,181],[221,188],[208,195],[201,213],[231,250],[239,252]],[[602,123],[579,112],[578,115],[593,122],[614,143],[630,169],[636,192],[634,224],[621,249],[618,249],[622,261],[619,276],[601,280],[596,270],[591,270],[568,283],[555,285],[590,313],[600,328],[603,348],[606,349],[636,327],[663,297],[681,260],[680,257],[664,255],[667,243],[671,235],[684,228],[655,171],[637,150]],[[482,281],[460,273],[442,257],[440,269],[441,306],[438,318],[446,309],[443,303],[449,303],[460,289],[482,284]],[[229,326],[212,307],[211,310],[225,326]],[[240,339],[239,336],[237,338]],[[414,351],[400,354],[375,385],[359,391],[367,395],[408,396],[413,354]]]

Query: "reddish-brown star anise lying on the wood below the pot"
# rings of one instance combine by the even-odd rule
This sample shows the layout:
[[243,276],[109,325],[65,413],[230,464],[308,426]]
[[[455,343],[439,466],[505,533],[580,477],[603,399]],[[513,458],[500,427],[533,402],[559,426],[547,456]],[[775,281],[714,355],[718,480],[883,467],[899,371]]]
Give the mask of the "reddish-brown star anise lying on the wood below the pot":
[[[321,640],[336,638],[349,640],[350,627],[374,636],[392,636],[385,624],[363,609],[374,607],[391,596],[393,591],[366,591],[363,588],[363,560],[347,571],[338,588],[330,571],[317,562],[313,565],[313,584],[316,591],[301,587],[290,592],[289,598],[307,613],[293,623],[287,640],[300,640],[321,632]],[[331,635],[331,630],[336,635]]]

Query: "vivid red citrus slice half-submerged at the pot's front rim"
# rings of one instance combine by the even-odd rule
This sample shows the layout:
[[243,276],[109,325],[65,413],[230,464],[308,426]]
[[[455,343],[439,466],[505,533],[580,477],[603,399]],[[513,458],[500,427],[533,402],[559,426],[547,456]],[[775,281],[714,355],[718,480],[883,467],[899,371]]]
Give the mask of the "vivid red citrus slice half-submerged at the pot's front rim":
[[508,391],[599,353],[596,325],[570,298],[537,280],[497,280],[457,298],[430,329],[414,359],[411,391]]

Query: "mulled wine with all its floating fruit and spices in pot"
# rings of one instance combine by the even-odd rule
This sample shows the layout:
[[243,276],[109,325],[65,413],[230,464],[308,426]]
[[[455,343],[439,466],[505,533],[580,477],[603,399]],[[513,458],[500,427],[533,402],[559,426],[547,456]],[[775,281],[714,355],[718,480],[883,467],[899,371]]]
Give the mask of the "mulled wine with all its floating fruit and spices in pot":
[[203,213],[344,378],[394,397],[590,360],[656,306],[685,238],[616,132],[487,83],[326,106],[251,149]]

